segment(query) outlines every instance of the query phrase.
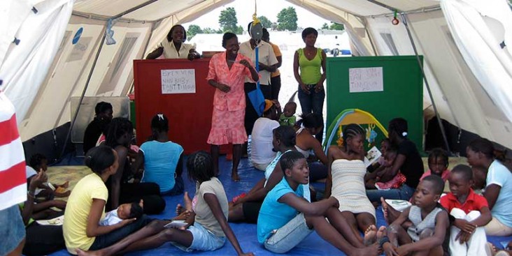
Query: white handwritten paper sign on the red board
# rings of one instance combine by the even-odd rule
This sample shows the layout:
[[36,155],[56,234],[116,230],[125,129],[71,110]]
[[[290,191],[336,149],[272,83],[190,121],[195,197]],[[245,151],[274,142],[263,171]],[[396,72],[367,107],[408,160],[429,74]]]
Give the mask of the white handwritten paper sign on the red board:
[[194,69],[164,69],[162,94],[196,93],[196,72]]

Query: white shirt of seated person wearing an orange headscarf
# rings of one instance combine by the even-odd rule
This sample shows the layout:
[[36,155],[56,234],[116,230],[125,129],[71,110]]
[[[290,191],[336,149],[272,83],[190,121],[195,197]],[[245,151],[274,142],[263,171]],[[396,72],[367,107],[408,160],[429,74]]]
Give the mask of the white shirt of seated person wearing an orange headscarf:
[[268,165],[276,157],[272,151],[273,129],[278,128],[279,122],[260,117],[254,123],[253,140],[250,143],[250,158],[258,165]]

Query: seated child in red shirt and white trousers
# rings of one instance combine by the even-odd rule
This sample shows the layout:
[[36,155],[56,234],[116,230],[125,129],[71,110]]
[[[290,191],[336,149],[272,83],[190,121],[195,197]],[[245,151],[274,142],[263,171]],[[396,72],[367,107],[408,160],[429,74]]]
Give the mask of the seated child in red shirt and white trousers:
[[450,254],[488,255],[483,226],[490,222],[492,216],[485,197],[476,195],[471,189],[471,167],[455,166],[448,181],[450,193],[441,197],[440,203],[450,213]]

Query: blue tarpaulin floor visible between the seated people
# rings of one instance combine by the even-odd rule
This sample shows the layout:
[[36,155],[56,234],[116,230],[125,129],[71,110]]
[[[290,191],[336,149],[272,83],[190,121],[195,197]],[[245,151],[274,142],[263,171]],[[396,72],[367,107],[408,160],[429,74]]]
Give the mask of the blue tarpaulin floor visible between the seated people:
[[[232,162],[226,161],[225,157],[220,158],[220,180],[224,185],[225,191],[227,193],[228,200],[232,199],[234,196],[239,195],[240,193],[247,192],[251,188],[253,188],[254,184],[262,179],[263,172],[255,170],[248,159],[244,158],[241,160],[239,166],[239,174],[241,176],[241,181],[234,182],[230,179]],[[66,158],[64,159],[60,165],[82,165],[83,158]],[[185,168],[185,173],[183,177],[187,177],[187,170]],[[184,179],[185,181],[185,190],[191,195],[194,195],[195,186],[192,181],[188,179]],[[313,186],[318,188],[319,190],[323,190],[323,183],[314,183]],[[166,200],[166,209],[162,214],[151,216],[152,218],[172,218],[176,216],[175,209],[176,204],[183,204],[183,195],[177,195],[173,197],[164,197]],[[385,225],[385,220],[383,217],[383,213],[381,211],[381,207],[376,210],[377,213],[377,225]],[[236,237],[239,239],[239,243],[244,252],[253,252],[255,255],[274,255],[269,251],[265,250],[262,246],[259,245],[256,238],[256,225],[254,224],[239,224],[239,223],[230,223]],[[503,248],[502,242],[508,242],[511,240],[511,236],[509,237],[497,237],[491,236],[488,237],[488,240],[497,246],[497,248]],[[211,251],[211,252],[194,252],[194,254],[200,255],[236,255],[236,252],[227,240],[225,246],[220,248],[219,250]],[[69,255],[66,250],[60,250],[57,253],[53,253],[52,256],[60,256],[60,255]],[[152,250],[145,250],[136,253],[129,253],[129,255],[190,255],[190,253],[185,253],[182,250],[172,246],[170,243],[166,243],[159,248],[155,248]],[[299,243],[299,246],[290,250],[287,254],[283,255],[344,255],[339,250],[331,246],[326,241],[322,240],[318,234],[313,232],[311,235],[306,237],[304,241]]]

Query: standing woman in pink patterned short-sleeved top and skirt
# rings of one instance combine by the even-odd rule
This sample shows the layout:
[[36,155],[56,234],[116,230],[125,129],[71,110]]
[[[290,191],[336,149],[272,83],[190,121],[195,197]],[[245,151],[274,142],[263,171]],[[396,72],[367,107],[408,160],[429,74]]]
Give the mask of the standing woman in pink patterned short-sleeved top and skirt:
[[231,177],[239,181],[239,162],[242,144],[247,142],[247,133],[243,120],[246,114],[246,96],[243,82],[246,77],[259,79],[250,59],[239,54],[239,39],[234,33],[222,36],[222,47],[226,52],[213,55],[208,68],[208,84],[215,87],[213,95],[213,114],[208,144],[211,144],[213,172],[219,174],[220,145],[233,144],[233,169]]

